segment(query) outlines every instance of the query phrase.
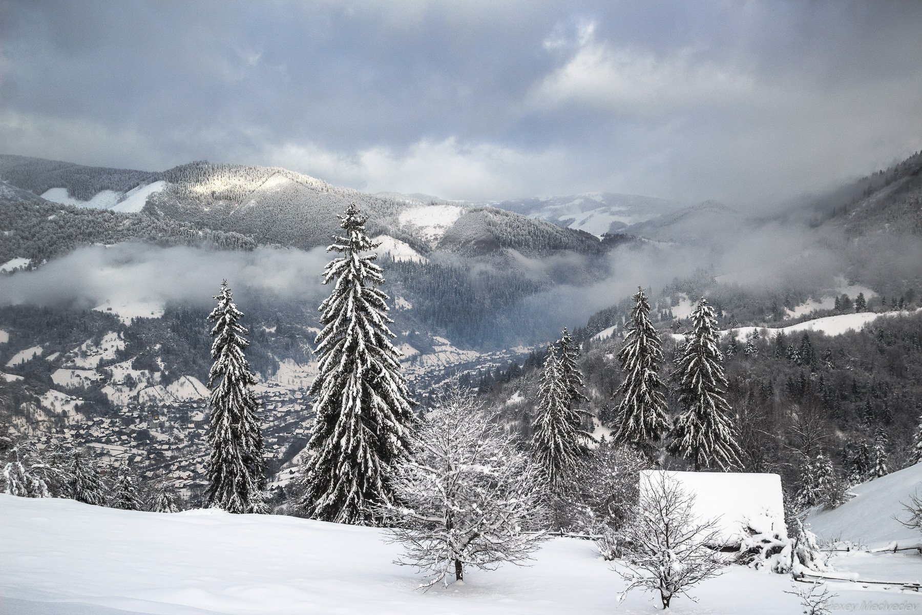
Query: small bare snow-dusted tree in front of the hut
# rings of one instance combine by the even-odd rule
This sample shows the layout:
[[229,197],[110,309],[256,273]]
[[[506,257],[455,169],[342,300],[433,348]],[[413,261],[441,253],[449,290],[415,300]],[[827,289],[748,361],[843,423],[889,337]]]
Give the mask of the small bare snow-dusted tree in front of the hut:
[[667,472],[641,475],[638,514],[625,531],[622,573],[632,589],[658,592],[663,609],[676,596],[721,573],[727,562],[713,549],[719,544],[715,519],[699,519],[694,495],[683,491]]

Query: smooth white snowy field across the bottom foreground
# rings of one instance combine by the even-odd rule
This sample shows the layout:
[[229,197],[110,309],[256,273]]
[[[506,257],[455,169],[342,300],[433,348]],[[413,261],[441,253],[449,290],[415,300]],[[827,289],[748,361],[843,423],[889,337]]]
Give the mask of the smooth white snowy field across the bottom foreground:
[[[550,540],[530,567],[470,571],[464,585],[424,593],[410,568],[393,563],[400,548],[374,528],[218,511],[137,513],[10,495],[0,495],[0,519],[5,615],[662,612],[641,593],[619,606],[619,574],[592,543],[573,538]],[[867,567],[871,557],[894,556],[849,557]],[[891,574],[915,574],[903,564],[909,561],[892,560]],[[839,585],[840,610],[855,603],[922,610],[916,593]],[[797,598],[784,593],[790,587],[784,575],[731,566],[694,592],[697,604],[677,598],[671,612],[799,613]]]

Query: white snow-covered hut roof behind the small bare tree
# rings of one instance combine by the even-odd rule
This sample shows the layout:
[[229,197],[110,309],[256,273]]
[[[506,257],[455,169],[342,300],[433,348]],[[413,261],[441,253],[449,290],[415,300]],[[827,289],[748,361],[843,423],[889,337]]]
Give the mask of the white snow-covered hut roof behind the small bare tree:
[[720,547],[737,548],[744,538],[758,534],[787,537],[777,474],[644,470],[640,473],[641,493],[656,484],[651,480],[659,480],[662,474],[694,496],[693,511],[700,521],[716,519]]

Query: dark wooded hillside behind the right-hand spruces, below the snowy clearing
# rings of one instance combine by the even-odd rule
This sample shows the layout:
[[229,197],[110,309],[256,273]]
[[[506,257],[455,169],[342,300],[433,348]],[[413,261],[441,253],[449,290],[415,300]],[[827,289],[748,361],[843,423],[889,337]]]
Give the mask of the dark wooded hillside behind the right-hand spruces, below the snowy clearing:
[[[659,328],[672,373],[681,341]],[[579,357],[590,401],[608,430],[620,427],[616,411],[625,374],[615,361],[620,337],[585,340]],[[917,460],[922,415],[922,314],[881,317],[839,336],[804,332],[786,336],[760,329],[756,336],[721,337],[727,402],[739,434],[740,469],[776,472],[786,491],[802,491],[816,474],[818,457],[833,473],[833,491]],[[471,379],[510,425],[530,437],[538,399],[538,351],[514,364]],[[680,412],[669,389],[668,412]],[[882,468],[881,468],[882,464]],[[834,498],[833,498],[834,500]]]

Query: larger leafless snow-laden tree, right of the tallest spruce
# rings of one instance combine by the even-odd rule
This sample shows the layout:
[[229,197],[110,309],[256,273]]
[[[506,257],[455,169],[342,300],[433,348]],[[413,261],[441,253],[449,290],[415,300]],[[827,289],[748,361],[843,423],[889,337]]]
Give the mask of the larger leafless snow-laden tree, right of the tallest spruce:
[[546,538],[542,477],[468,389],[450,385],[411,445],[395,467],[399,503],[377,508],[405,549],[397,562],[426,574],[420,587],[529,559]]

